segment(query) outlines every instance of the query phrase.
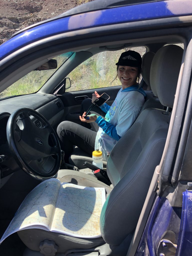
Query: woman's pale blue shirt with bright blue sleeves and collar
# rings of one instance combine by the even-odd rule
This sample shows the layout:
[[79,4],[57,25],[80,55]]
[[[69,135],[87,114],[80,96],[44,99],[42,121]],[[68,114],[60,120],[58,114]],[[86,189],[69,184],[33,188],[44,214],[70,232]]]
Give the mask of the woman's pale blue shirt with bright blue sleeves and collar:
[[145,92],[137,87],[120,89],[112,106],[104,104],[101,109],[106,113],[105,119],[98,117],[96,123],[100,126],[95,140],[95,149],[103,152],[107,159],[116,142],[131,127],[144,104]]

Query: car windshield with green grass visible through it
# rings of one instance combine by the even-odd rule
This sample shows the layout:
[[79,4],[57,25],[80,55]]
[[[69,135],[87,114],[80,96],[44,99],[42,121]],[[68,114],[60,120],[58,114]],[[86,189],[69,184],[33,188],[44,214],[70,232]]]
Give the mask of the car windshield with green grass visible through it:
[[[24,77],[13,83],[7,89],[0,93],[0,99],[15,95],[30,94],[37,92],[44,83],[55,73],[55,71],[73,54],[67,52],[53,59],[57,60],[56,69],[33,70]],[[42,68],[43,65],[41,65]]]

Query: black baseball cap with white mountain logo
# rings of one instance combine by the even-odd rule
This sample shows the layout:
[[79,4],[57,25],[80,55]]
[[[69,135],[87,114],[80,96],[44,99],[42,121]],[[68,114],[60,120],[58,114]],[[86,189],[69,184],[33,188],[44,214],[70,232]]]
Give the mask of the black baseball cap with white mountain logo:
[[142,58],[136,51],[125,51],[121,54],[117,66],[141,67]]

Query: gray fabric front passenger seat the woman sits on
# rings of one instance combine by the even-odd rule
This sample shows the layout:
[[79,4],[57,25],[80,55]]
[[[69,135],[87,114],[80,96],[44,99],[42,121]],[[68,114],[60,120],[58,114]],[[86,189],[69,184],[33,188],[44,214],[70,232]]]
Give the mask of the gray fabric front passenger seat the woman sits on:
[[[157,108],[157,109],[163,109],[164,106],[160,103],[157,96],[153,94],[151,91],[151,84],[150,84],[150,70],[151,70],[151,63],[154,58],[155,54],[154,52],[146,52],[142,57],[142,78],[146,83],[147,91],[146,92],[146,98],[145,103],[142,106],[141,112],[144,109],[147,108]],[[69,163],[71,165],[77,166],[79,169],[85,168],[83,166],[83,163],[87,161],[89,163],[92,163],[92,157],[90,157],[89,154],[84,152],[78,147],[75,147],[72,154],[69,157]],[[103,164],[106,165],[106,161],[103,161]]]

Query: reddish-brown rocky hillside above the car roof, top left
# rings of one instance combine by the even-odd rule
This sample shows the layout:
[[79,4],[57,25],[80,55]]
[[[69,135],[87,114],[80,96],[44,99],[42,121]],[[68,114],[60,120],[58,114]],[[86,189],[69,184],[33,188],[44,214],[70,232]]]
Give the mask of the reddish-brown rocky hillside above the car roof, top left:
[[0,0],[0,44],[15,32],[89,0]]

